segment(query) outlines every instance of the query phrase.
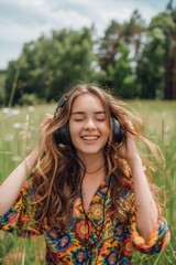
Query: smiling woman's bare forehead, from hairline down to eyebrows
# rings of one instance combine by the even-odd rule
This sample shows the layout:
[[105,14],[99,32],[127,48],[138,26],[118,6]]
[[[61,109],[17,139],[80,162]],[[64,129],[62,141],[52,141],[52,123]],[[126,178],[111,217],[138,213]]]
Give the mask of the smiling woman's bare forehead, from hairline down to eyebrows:
[[86,93],[75,98],[72,112],[105,112],[105,107],[97,95]]

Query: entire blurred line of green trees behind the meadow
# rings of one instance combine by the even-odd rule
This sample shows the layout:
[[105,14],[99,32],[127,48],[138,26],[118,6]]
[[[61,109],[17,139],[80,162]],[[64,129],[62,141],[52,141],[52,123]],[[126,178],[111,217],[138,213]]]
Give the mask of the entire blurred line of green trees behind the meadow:
[[134,10],[129,21],[112,20],[101,38],[94,25],[52,31],[25,43],[0,77],[0,104],[9,106],[51,102],[79,81],[122,98],[176,99],[176,7],[170,0],[148,24]]

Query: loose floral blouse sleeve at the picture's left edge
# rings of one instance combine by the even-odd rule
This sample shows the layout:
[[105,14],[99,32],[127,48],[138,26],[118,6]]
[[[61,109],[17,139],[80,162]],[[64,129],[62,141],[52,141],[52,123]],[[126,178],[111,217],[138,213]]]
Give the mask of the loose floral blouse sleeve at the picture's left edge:
[[0,216],[0,230],[22,237],[41,235],[42,230],[34,221],[32,201],[33,194],[25,183],[12,208]]

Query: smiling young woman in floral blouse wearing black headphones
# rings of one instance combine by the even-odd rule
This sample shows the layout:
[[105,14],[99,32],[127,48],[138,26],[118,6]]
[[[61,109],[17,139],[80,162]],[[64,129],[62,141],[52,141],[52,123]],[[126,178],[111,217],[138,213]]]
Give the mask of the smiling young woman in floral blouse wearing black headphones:
[[130,264],[132,247],[161,252],[169,232],[140,140],[158,159],[121,100],[96,85],[73,87],[41,125],[38,145],[0,187],[1,230],[44,234],[46,264]]

